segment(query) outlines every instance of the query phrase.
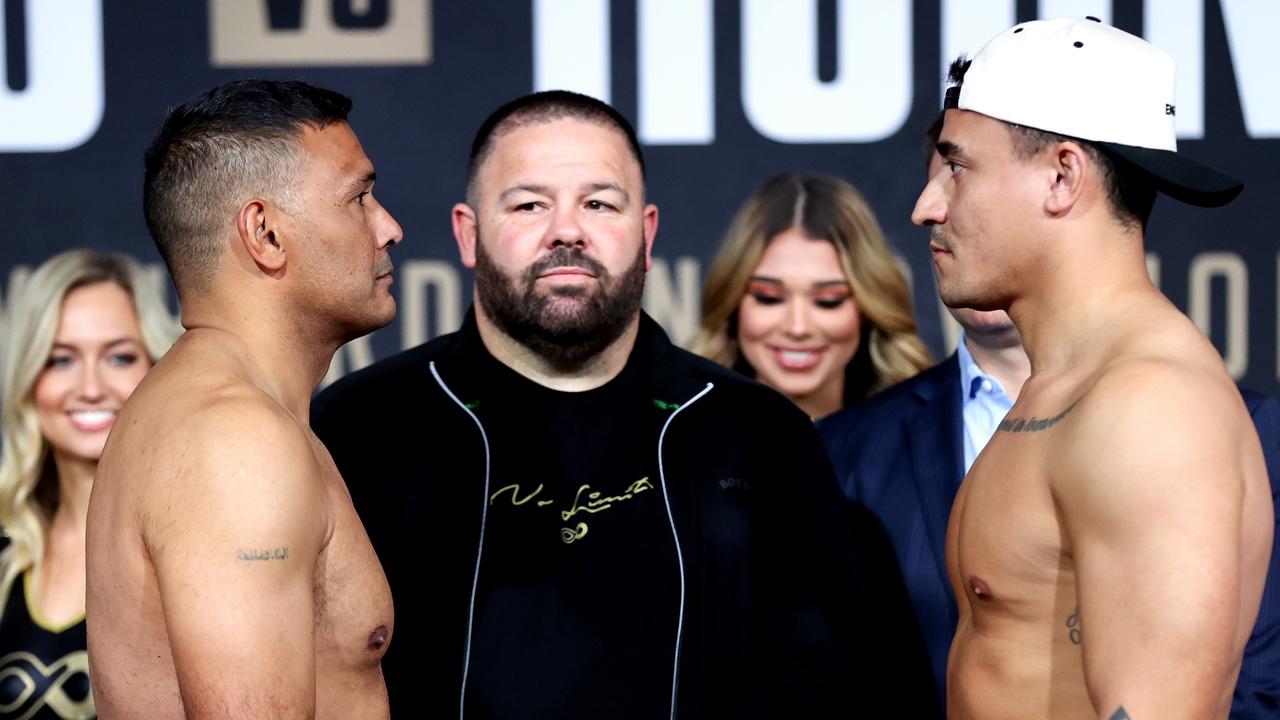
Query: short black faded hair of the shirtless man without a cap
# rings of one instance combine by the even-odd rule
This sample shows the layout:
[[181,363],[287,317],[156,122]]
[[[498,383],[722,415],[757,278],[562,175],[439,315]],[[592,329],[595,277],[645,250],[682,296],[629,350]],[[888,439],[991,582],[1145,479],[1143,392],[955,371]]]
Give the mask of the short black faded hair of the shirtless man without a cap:
[[207,286],[241,202],[289,204],[302,127],[349,111],[332,90],[269,79],[219,85],[169,111],[143,155],[142,208],[179,296]]

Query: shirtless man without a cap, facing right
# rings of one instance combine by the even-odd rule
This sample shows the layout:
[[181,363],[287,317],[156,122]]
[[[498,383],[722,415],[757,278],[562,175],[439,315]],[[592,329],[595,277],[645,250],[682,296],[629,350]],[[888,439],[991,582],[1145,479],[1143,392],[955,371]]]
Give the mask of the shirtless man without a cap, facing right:
[[390,592],[307,420],[337,348],[396,314],[401,228],[349,108],[232,82],[173,110],[147,151],[147,224],[187,333],[116,420],[90,502],[104,720],[389,716]]

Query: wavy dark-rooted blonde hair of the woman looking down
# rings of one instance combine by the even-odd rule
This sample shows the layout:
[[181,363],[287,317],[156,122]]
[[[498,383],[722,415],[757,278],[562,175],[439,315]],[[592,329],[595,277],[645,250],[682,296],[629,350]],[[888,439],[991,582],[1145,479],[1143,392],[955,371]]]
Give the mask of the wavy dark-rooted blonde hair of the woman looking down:
[[846,407],[933,364],[876,214],[854,186],[823,174],[777,176],[737,211],[707,273],[690,350],[754,377],[737,346],[737,309],[764,247],[791,228],[836,247],[858,302],[863,336],[845,368]]

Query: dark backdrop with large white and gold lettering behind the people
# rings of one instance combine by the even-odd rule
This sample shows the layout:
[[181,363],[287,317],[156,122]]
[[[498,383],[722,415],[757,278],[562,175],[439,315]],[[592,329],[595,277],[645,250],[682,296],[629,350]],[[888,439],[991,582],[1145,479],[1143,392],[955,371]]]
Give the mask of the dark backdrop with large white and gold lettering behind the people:
[[[954,343],[925,234],[909,222],[943,58],[1016,20],[1093,14],[1179,61],[1180,150],[1245,191],[1199,210],[1162,199],[1148,228],[1158,284],[1244,384],[1277,393],[1280,4],[1268,0],[0,0],[0,290],[52,252],[148,263],[142,149],[165,109],[237,77],[348,94],[404,228],[401,315],[332,375],[453,329],[471,292],[449,206],[475,127],[547,87],[604,96],[636,120],[660,210],[646,306],[677,341],[742,199],[774,173],[851,181],[914,278],[922,334]],[[1044,78],[1051,82],[1051,78]]]

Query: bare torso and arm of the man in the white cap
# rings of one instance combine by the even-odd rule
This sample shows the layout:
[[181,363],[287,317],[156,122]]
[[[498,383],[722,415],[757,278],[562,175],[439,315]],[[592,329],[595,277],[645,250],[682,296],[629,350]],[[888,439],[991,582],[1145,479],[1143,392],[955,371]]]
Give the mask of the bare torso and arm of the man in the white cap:
[[1226,717],[1274,530],[1257,433],[1164,299],[1087,357],[1032,375],[956,496],[947,716]]

